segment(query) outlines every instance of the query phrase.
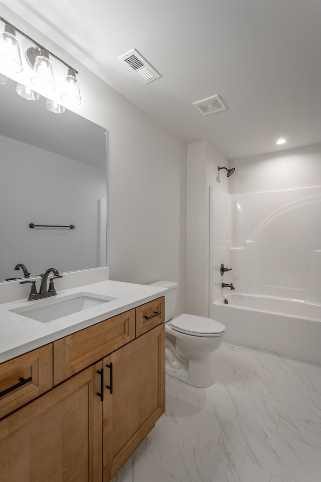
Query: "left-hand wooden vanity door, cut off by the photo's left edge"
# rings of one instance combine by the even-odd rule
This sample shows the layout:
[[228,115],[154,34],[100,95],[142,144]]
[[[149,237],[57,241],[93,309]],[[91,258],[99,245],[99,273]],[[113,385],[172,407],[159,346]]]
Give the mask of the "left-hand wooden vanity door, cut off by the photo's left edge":
[[1,482],[101,482],[102,363],[0,421]]

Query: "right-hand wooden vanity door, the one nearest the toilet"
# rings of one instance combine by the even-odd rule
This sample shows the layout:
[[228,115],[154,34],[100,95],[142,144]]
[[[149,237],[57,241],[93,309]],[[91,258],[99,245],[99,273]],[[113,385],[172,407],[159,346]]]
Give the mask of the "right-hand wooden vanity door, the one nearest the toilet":
[[108,482],[165,411],[165,323],[104,358],[103,367],[105,387],[112,387],[103,402]]

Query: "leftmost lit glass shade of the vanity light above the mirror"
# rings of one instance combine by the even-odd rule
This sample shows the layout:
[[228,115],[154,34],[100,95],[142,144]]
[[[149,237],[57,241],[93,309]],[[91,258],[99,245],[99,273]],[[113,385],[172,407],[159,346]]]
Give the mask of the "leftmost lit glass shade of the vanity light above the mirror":
[[19,43],[12,25],[6,25],[0,35],[0,66],[10,72],[22,71]]

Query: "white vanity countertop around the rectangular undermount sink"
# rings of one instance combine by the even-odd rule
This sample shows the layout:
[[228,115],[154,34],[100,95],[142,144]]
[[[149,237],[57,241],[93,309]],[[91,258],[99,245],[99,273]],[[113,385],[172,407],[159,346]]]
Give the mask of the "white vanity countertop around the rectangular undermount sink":
[[[156,286],[109,280],[57,291],[57,296],[43,300],[27,301],[24,298],[2,303],[0,304],[0,363],[154,300],[163,296],[166,291],[166,288]],[[47,323],[10,311],[26,305],[31,307],[36,303],[37,306],[39,303],[51,304],[66,295],[80,292],[109,295],[117,299]]]

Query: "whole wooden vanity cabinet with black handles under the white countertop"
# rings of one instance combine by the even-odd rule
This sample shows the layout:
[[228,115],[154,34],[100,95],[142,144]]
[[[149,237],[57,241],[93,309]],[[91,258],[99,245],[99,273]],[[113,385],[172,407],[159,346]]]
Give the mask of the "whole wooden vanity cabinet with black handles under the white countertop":
[[56,386],[0,420],[1,482],[110,481],[165,411],[164,297],[150,303],[22,355],[50,352]]

